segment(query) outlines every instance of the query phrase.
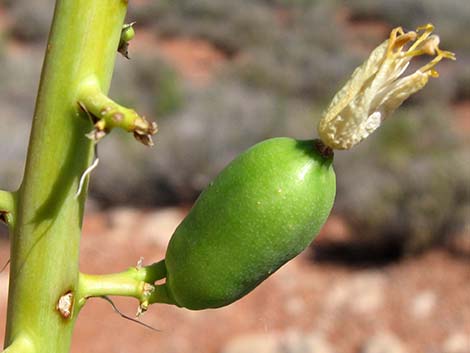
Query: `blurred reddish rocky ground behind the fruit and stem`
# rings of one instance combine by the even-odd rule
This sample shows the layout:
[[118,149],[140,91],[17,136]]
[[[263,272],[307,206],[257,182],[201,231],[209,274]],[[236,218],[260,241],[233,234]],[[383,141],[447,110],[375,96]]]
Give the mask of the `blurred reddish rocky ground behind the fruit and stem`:
[[[81,268],[104,273],[160,260],[185,210],[115,209],[86,217]],[[346,265],[315,256],[344,227],[332,218],[314,246],[250,295],[201,312],[154,305],[121,319],[100,299],[78,320],[73,353],[469,353],[470,258],[440,249],[386,264]],[[335,238],[336,237],[336,238]],[[7,258],[8,244],[0,256]],[[7,271],[0,274],[4,326]],[[132,315],[137,303],[116,299]],[[3,329],[2,329],[3,332]]]

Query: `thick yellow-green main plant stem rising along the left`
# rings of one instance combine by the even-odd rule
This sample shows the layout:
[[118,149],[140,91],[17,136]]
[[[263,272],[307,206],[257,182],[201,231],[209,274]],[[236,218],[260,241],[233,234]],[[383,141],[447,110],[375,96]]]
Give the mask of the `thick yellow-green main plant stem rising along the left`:
[[90,79],[108,91],[126,9],[127,0],[56,2],[17,197],[5,347],[22,337],[35,353],[69,351],[86,193],[74,195],[93,151],[78,92]]

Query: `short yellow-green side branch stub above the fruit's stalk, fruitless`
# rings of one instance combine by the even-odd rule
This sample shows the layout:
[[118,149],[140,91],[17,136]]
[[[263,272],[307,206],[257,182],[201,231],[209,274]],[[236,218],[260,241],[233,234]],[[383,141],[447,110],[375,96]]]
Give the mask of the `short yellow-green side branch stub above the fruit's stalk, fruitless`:
[[89,135],[92,140],[98,141],[118,127],[133,132],[134,137],[144,145],[153,145],[152,135],[157,132],[157,124],[114,102],[102,93],[94,80],[82,85],[78,104],[93,120],[95,129]]

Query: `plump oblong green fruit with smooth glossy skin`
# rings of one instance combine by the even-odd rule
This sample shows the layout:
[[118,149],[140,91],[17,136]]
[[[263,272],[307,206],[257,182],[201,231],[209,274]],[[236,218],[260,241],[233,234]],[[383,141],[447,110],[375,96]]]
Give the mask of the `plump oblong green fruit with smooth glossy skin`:
[[228,305],[310,244],[336,189],[332,155],[318,143],[261,142],[209,184],[167,249],[171,301],[194,310]]

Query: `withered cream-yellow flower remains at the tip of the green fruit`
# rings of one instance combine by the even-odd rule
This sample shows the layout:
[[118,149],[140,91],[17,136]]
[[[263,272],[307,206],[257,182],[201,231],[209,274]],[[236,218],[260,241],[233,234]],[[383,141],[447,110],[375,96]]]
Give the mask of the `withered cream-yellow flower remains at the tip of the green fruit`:
[[[321,140],[332,149],[350,149],[374,132],[408,97],[422,89],[430,77],[438,77],[435,66],[455,54],[439,48],[432,24],[404,32],[401,27],[372,51],[349,81],[334,96],[319,125]],[[434,58],[414,73],[402,76],[411,59]]]

